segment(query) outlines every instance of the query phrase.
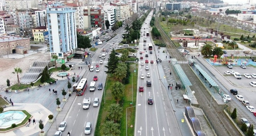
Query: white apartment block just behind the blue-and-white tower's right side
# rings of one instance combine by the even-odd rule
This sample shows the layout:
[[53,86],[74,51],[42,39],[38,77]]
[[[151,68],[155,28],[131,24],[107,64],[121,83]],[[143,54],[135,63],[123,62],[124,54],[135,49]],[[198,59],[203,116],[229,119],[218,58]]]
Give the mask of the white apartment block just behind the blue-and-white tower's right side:
[[84,7],[78,6],[75,3],[67,3],[66,5],[73,7],[76,10],[76,28],[84,29]]

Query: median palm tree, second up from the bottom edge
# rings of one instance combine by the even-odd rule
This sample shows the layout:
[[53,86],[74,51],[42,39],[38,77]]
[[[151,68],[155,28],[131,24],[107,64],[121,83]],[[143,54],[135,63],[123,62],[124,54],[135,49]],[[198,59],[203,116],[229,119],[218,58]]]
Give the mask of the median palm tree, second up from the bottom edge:
[[108,115],[107,118],[109,120],[113,120],[115,123],[117,121],[120,121],[122,118],[122,107],[120,106],[120,104],[116,103],[116,104],[111,104],[108,108]]

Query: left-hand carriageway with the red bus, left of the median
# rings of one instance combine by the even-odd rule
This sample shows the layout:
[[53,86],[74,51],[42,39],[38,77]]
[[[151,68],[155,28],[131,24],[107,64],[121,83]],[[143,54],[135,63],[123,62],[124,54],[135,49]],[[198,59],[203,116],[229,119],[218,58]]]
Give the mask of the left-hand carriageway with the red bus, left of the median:
[[[69,113],[67,113],[66,118],[64,121],[67,122],[67,127],[66,131],[63,133],[67,133],[68,131],[71,132],[72,136],[82,136],[84,135],[84,128],[87,122],[91,122],[92,124],[92,131],[91,131],[91,136],[94,135],[95,131],[95,126],[98,118],[98,112],[99,112],[99,107],[93,107],[93,100],[94,98],[98,97],[99,98],[99,103],[103,103],[104,101],[101,101],[102,95],[103,95],[103,90],[98,90],[98,84],[103,83],[103,88],[105,86],[105,81],[106,81],[106,71],[107,69],[104,67],[107,64],[109,54],[110,54],[110,43],[113,43],[115,41],[115,44],[112,46],[113,48],[118,46],[119,41],[121,41],[121,35],[123,34],[124,27],[119,28],[116,30],[118,38],[113,38],[109,40],[107,43],[104,42],[105,45],[103,45],[102,48],[98,48],[96,53],[93,55],[91,58],[91,66],[96,66],[96,64],[99,64],[99,61],[101,58],[99,58],[100,53],[104,53],[102,51],[103,48],[109,49],[108,54],[106,55],[106,59],[103,60],[103,64],[99,64],[100,71],[96,72],[96,68],[94,68],[94,71],[89,71],[88,66],[86,67],[88,70],[84,73],[83,78],[87,78],[88,85],[86,88],[86,91],[83,96],[77,96],[74,100],[74,103],[71,106],[71,109],[69,110]],[[98,81],[96,81],[96,89],[95,91],[90,92],[89,91],[89,85],[91,81],[93,81],[93,76],[97,75],[98,76]],[[74,95],[74,94],[73,94]],[[84,98],[91,98],[91,106],[89,109],[83,109],[83,99]]]

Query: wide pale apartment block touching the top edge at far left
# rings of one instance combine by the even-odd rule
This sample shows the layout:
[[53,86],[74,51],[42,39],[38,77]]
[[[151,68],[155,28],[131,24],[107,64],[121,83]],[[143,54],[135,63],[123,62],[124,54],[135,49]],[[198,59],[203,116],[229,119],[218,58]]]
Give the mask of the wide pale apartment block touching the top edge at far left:
[[5,0],[5,11],[10,11],[12,9],[29,9],[31,8],[30,0]]

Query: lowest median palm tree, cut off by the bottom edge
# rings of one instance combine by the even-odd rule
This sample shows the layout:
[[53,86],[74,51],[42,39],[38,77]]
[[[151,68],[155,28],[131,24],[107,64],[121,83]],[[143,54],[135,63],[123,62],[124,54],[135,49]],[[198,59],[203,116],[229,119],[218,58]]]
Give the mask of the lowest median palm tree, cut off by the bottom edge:
[[118,123],[114,123],[114,121],[106,121],[101,126],[101,135],[119,136],[121,132],[118,127]]

